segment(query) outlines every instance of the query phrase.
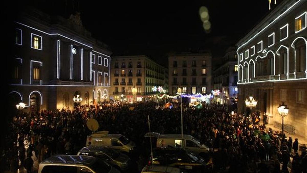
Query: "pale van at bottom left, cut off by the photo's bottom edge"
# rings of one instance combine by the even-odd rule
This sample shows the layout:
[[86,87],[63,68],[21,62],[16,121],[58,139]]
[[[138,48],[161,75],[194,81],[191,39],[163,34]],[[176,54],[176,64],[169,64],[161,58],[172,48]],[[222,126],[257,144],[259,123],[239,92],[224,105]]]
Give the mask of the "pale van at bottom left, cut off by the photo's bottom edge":
[[101,159],[79,155],[54,155],[38,166],[38,173],[53,172],[120,173]]

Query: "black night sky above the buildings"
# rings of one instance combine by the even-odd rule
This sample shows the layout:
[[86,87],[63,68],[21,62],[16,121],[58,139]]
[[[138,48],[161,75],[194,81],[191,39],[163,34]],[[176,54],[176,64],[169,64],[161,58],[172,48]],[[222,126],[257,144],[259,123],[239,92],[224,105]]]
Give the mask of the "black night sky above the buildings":
[[[267,0],[34,0],[30,5],[65,18],[79,10],[83,25],[110,46],[113,56],[146,54],[157,61],[169,53],[198,49],[222,56],[269,11]],[[209,10],[210,34],[200,20],[201,6]]]

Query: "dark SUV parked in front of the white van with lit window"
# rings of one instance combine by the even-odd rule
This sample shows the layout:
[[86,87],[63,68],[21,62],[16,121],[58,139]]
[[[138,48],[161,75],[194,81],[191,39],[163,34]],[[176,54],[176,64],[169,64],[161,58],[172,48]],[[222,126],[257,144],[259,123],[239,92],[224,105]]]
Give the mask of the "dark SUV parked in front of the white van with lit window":
[[[151,163],[151,161],[149,161]],[[205,160],[182,148],[155,148],[153,150],[153,165],[177,167],[187,172],[207,172],[210,166]]]

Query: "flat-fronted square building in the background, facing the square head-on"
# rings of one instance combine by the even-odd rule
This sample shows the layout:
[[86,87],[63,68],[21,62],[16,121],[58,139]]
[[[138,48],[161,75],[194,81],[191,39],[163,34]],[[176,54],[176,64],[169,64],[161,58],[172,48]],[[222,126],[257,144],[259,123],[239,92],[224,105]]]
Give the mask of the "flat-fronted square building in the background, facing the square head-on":
[[178,88],[186,94],[209,94],[212,90],[210,53],[182,53],[169,56],[169,94]]

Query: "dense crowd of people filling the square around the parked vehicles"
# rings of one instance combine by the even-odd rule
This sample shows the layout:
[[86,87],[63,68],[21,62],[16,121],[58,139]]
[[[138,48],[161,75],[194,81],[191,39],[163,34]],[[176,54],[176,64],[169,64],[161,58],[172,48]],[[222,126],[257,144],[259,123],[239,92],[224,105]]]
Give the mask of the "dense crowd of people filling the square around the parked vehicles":
[[[2,147],[0,171],[16,172],[24,166],[33,169],[31,156],[38,162],[55,154],[76,154],[85,146],[91,131],[86,122],[94,118],[99,131],[122,134],[134,141],[138,148],[139,169],[148,162],[148,145],[144,134],[148,132],[148,115],[152,132],[181,133],[180,104],[165,108],[162,102],[103,102],[100,105],[76,106],[73,110],[41,111],[16,115],[10,123],[5,146]],[[250,118],[251,117],[251,118]],[[183,104],[183,131],[211,148],[209,158],[213,170],[229,172],[293,172],[307,173],[307,154],[298,154],[298,139],[267,129],[259,115],[246,117],[231,114],[226,105],[202,104],[188,107]],[[293,158],[290,163],[290,157]],[[281,166],[282,165],[282,166]]]

